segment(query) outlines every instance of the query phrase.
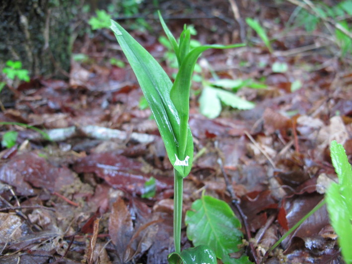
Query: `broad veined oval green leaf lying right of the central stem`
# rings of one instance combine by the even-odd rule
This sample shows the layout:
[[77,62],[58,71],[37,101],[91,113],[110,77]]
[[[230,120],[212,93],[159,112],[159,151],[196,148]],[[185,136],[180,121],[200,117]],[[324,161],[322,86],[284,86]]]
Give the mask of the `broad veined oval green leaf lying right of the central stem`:
[[224,264],[247,263],[248,258],[231,259],[230,253],[238,252],[242,244],[240,221],[230,206],[219,199],[202,195],[186,212],[187,237],[193,245],[208,245]]

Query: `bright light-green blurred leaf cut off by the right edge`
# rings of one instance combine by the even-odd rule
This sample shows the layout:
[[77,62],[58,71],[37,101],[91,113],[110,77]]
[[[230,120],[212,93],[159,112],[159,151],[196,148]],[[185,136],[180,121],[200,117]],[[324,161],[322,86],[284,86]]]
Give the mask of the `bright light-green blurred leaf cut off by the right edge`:
[[352,170],[344,147],[335,140],[331,142],[331,160],[339,184],[333,183],[326,193],[331,224],[339,236],[342,256],[352,263]]

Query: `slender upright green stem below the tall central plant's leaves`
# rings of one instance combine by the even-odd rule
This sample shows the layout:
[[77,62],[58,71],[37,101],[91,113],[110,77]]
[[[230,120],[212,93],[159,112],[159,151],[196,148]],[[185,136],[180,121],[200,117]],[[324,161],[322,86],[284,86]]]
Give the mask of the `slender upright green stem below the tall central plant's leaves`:
[[181,253],[182,196],[183,178],[174,169],[174,244],[176,253]]

